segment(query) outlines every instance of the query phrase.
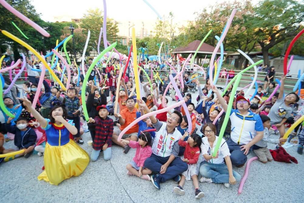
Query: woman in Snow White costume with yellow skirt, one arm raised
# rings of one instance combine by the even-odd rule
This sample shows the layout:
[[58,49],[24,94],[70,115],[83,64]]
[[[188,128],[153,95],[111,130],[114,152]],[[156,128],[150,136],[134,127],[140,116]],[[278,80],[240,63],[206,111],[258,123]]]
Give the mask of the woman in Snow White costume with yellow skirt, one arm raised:
[[38,180],[58,185],[65,179],[79,176],[88,166],[90,159],[85,150],[70,139],[70,134],[76,135],[77,129],[71,120],[65,119],[67,112],[64,106],[54,106],[50,111],[50,119],[44,119],[27,98],[19,99],[30,109],[47,135],[44,151],[45,170],[38,176]]

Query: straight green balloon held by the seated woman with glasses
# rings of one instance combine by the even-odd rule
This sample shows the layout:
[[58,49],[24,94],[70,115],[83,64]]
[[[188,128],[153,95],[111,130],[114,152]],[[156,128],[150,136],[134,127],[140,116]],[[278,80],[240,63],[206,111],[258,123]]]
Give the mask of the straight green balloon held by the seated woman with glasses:
[[[234,77],[235,78],[235,77]],[[231,108],[232,108],[232,105],[233,105],[233,99],[234,97],[232,95],[235,95],[236,92],[237,92],[237,87],[239,86],[240,84],[240,80],[242,78],[242,74],[238,74],[237,76],[237,80],[235,81],[234,85],[233,85],[233,88],[232,88],[232,91],[231,91],[231,97],[229,98],[229,102],[228,102],[228,107],[227,107],[227,111],[226,111],[226,115],[225,115],[225,118],[224,118],[224,122],[223,122],[223,125],[221,127],[221,130],[219,131],[219,139],[217,140],[217,143],[216,143],[216,146],[215,146],[215,149],[212,153],[212,156],[215,157],[216,156],[216,153],[217,151],[219,150],[219,145],[221,144],[221,141],[222,141],[222,138],[223,138],[223,135],[224,135],[224,132],[225,132],[225,129],[226,129],[226,126],[227,126],[227,122],[229,120],[229,117],[230,117],[230,112],[231,112]]]

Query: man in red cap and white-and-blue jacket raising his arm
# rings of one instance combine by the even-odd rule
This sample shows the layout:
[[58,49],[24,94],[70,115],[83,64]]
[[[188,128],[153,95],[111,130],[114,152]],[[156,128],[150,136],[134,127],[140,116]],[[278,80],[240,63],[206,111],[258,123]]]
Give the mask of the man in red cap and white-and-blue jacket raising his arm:
[[[212,91],[216,93],[225,112],[228,105],[215,86]],[[250,101],[244,96],[237,97],[237,109],[231,109],[231,134],[227,144],[231,153],[233,165],[242,167],[247,161],[247,155],[252,151],[252,146],[260,141],[264,135],[263,122],[258,114],[249,110]]]

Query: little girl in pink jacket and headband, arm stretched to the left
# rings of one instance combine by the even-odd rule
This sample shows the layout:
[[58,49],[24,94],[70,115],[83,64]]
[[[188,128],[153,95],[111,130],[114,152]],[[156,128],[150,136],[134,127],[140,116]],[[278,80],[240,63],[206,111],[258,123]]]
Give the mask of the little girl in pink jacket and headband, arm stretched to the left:
[[151,174],[152,171],[144,166],[145,160],[152,154],[150,133],[140,133],[138,142],[125,139],[121,139],[120,142],[129,145],[131,148],[136,148],[135,157],[126,166],[128,170],[127,175],[136,175],[144,180],[150,181],[150,176],[148,174]]

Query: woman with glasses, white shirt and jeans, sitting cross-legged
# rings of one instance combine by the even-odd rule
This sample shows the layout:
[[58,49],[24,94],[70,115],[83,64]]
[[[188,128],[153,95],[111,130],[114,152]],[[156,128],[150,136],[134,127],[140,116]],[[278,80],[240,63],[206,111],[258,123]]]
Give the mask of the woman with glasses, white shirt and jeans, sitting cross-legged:
[[[230,184],[235,185],[241,180],[240,174],[232,170],[230,151],[224,139],[221,140],[219,150],[215,157],[212,153],[219,139],[216,135],[216,127],[212,123],[206,123],[203,127],[205,137],[202,138],[201,151],[204,160],[200,164],[199,172],[202,178],[199,180],[207,183],[223,183],[226,188]],[[225,162],[226,164],[225,164]]]

